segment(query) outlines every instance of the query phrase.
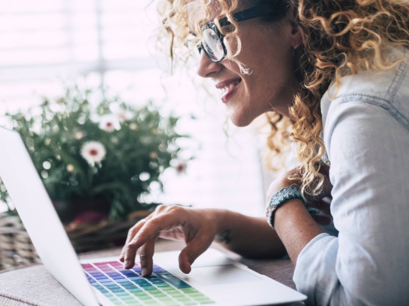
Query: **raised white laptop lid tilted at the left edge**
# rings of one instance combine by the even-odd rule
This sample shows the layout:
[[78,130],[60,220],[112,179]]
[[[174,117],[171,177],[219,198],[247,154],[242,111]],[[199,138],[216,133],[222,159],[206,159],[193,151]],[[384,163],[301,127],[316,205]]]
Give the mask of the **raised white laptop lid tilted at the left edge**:
[[0,176],[42,263],[83,304],[99,305],[20,135],[0,127],[0,143]]

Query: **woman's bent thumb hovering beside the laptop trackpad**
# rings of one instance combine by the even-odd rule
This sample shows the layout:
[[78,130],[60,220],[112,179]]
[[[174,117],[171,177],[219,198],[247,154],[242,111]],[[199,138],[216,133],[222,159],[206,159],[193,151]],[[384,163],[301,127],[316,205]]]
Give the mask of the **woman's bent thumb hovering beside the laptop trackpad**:
[[209,248],[212,241],[208,234],[202,234],[189,242],[179,254],[180,270],[186,274],[189,273],[193,262]]

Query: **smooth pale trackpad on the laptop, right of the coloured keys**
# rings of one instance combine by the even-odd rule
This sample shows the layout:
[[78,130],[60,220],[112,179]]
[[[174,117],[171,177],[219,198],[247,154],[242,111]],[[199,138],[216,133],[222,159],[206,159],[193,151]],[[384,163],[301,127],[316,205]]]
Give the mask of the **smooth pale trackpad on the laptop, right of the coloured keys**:
[[256,282],[262,279],[235,265],[192,268],[188,276],[201,285]]

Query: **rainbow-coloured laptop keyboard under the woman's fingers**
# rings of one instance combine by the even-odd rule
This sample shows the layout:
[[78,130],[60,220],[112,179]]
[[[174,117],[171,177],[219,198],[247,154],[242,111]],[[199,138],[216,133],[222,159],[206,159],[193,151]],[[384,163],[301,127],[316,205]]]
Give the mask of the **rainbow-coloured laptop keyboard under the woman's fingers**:
[[149,277],[138,264],[129,270],[119,261],[82,264],[88,282],[116,305],[201,305],[206,295],[159,266]]

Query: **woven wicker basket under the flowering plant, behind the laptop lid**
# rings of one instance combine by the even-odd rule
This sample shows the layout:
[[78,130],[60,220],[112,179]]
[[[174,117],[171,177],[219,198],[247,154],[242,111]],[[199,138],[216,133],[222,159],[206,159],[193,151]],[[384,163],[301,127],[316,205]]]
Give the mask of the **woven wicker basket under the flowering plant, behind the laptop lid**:
[[[124,244],[129,228],[151,211],[134,212],[126,221],[66,226],[77,253],[107,249]],[[0,270],[40,263],[37,252],[18,216],[0,214]]]

